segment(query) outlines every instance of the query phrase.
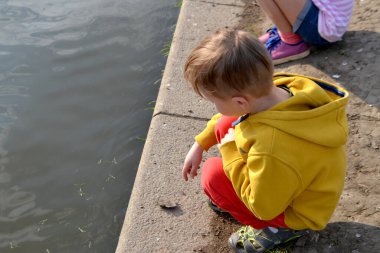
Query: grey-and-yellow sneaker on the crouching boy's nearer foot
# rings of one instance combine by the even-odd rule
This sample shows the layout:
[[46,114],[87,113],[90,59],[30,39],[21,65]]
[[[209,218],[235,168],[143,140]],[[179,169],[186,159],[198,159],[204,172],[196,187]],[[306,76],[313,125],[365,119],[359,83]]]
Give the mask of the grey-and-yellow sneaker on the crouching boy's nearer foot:
[[289,228],[254,229],[244,226],[233,233],[228,239],[228,245],[234,252],[265,252],[278,245],[287,244],[308,233],[308,230],[292,230]]

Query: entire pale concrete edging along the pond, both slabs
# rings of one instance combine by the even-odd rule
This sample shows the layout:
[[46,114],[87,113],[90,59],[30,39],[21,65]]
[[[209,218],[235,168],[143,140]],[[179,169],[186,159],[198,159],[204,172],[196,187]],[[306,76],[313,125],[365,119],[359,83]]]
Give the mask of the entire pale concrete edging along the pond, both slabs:
[[181,168],[214,109],[194,99],[182,66],[203,37],[233,27],[243,7],[240,0],[183,1],[117,253],[193,252],[211,243],[213,216],[199,177],[184,182]]

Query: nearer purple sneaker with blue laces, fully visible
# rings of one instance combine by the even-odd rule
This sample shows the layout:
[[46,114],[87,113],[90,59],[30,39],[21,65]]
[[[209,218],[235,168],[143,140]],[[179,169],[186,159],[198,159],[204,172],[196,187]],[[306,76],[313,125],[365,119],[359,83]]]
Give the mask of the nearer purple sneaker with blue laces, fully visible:
[[269,38],[265,46],[274,65],[298,60],[310,54],[309,46],[303,40],[296,44],[288,44],[282,41],[279,35]]

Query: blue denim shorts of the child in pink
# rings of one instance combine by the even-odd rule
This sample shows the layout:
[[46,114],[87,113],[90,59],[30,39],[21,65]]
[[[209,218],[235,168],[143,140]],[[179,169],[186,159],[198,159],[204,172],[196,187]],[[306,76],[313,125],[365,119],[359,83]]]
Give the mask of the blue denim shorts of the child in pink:
[[318,32],[319,9],[311,0],[307,0],[301,13],[293,24],[293,32],[300,35],[310,45],[323,47],[332,44]]

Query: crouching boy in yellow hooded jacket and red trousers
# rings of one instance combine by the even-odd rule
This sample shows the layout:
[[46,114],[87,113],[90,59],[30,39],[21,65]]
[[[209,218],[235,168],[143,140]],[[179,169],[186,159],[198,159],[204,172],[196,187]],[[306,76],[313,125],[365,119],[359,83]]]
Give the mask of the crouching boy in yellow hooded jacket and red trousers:
[[343,190],[348,93],[316,78],[277,73],[265,47],[221,30],[190,54],[184,75],[219,114],[195,137],[183,177],[197,175],[213,205],[243,226],[235,252],[262,252],[323,229]]

